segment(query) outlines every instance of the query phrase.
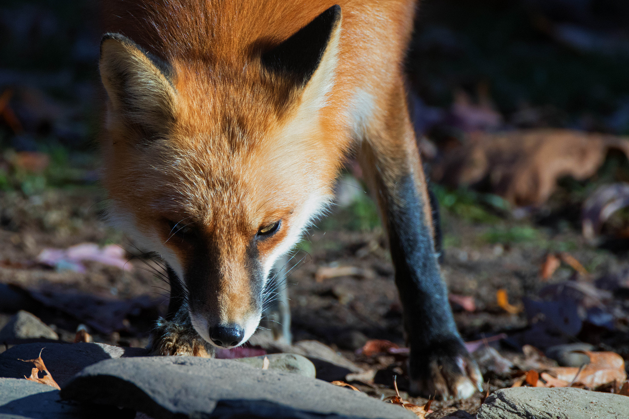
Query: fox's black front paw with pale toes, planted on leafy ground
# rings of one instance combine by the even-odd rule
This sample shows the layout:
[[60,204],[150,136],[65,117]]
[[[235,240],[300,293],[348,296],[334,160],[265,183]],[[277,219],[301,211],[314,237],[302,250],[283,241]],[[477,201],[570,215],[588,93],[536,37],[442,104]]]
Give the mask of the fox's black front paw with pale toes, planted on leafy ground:
[[409,359],[411,395],[438,400],[466,399],[482,391],[482,375],[459,339],[440,342]]

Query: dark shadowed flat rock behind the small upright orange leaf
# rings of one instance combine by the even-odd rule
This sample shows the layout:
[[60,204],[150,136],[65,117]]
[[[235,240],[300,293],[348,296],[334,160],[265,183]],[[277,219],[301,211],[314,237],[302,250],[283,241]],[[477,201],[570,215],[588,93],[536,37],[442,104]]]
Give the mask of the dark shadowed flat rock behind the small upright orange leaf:
[[[43,349],[43,351],[42,351]],[[0,377],[24,378],[31,375],[33,364],[19,359],[42,359],[52,378],[63,386],[86,366],[109,358],[146,356],[143,348],[111,346],[93,343],[33,343],[17,345],[0,354]]]

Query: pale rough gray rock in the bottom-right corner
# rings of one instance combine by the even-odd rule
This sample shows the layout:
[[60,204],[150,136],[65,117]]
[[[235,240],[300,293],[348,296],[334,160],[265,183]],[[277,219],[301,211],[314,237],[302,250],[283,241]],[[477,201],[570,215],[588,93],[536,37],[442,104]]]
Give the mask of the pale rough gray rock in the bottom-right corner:
[[629,397],[579,388],[517,387],[496,391],[477,419],[626,419]]

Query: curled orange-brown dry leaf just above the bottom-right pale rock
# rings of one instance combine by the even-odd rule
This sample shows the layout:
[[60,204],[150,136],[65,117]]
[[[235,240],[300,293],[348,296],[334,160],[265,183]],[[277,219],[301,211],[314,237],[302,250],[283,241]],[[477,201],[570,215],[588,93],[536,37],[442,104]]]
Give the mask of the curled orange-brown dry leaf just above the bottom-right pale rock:
[[590,359],[590,363],[584,366],[581,371],[576,367],[550,368],[550,371],[557,375],[558,379],[569,383],[581,383],[590,388],[598,387],[601,384],[610,383],[614,380],[625,381],[625,361],[615,352],[574,352],[586,354]]

